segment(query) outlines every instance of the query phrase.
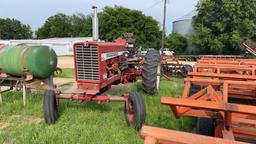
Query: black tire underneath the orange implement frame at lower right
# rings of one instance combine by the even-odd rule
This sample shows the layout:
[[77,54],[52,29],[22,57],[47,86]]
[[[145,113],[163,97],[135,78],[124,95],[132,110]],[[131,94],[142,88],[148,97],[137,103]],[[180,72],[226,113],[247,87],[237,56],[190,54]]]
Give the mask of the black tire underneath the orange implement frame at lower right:
[[196,133],[214,136],[214,120],[210,118],[197,118]]

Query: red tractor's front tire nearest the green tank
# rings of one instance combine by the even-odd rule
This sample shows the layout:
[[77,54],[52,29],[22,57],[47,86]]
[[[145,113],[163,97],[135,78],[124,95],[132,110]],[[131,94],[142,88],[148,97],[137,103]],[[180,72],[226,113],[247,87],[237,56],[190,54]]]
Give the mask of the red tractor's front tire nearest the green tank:
[[43,101],[44,119],[47,124],[54,124],[58,117],[58,105],[54,90],[46,90]]

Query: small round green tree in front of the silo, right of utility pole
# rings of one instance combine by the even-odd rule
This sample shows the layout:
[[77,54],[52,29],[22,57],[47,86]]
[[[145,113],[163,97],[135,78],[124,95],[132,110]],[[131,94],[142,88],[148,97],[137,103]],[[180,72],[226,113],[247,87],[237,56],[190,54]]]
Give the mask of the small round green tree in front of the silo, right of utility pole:
[[184,53],[188,46],[187,39],[178,33],[171,33],[165,41],[165,46],[171,48],[176,54]]

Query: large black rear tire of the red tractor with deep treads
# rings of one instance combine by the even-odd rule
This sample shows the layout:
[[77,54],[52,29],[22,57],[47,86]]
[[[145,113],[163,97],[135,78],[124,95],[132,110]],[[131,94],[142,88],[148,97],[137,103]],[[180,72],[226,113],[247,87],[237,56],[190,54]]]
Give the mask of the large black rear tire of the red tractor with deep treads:
[[157,88],[157,69],[160,66],[160,53],[157,50],[148,50],[142,68],[142,89],[147,94],[155,94]]

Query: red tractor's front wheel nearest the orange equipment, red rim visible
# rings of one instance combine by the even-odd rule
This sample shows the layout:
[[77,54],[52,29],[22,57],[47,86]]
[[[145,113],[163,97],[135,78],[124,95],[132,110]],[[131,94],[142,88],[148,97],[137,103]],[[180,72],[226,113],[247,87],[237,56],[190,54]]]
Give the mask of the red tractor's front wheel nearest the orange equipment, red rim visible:
[[146,107],[144,98],[140,93],[129,93],[128,102],[124,107],[127,124],[135,129],[140,129],[146,119]]

